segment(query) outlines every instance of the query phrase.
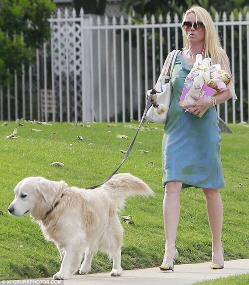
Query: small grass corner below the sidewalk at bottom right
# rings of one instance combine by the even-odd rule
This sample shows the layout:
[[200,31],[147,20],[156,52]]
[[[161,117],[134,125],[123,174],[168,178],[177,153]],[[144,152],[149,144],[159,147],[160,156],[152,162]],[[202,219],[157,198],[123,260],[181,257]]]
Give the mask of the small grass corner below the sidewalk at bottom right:
[[246,285],[249,284],[249,274],[235,275],[215,280],[197,282],[194,285]]

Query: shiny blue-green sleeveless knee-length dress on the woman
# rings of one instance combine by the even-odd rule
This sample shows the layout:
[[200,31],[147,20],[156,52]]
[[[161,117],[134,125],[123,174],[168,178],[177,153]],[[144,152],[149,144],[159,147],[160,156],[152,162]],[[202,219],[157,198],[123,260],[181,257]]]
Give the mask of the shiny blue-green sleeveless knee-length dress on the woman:
[[215,107],[199,118],[178,105],[186,76],[192,69],[178,54],[173,74],[173,100],[162,140],[163,186],[182,182],[182,188],[224,188],[221,131]]

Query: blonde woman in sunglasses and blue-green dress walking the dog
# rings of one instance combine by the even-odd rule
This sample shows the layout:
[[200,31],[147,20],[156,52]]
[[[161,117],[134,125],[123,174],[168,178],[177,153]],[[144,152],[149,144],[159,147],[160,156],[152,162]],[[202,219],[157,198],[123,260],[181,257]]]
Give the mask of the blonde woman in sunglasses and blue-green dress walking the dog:
[[[178,256],[175,247],[180,214],[180,191],[183,188],[202,188],[206,197],[207,213],[212,233],[212,269],[224,267],[221,241],[223,204],[219,188],[224,188],[220,158],[220,129],[214,99],[195,97],[195,103],[178,105],[186,76],[193,67],[197,54],[211,57],[211,64],[221,64],[230,74],[229,59],[221,48],[218,33],[211,16],[204,8],[194,5],[188,9],[182,22],[184,48],[178,54],[172,74],[173,100],[170,104],[162,141],[163,216],[165,254],[160,270],[174,270]],[[170,54],[166,58],[158,81],[165,74]],[[147,96],[150,91],[147,92]],[[234,87],[215,96],[221,104],[235,95]],[[156,98],[154,95],[153,99]],[[209,108],[208,108],[209,107]],[[208,110],[199,118],[196,116]]]

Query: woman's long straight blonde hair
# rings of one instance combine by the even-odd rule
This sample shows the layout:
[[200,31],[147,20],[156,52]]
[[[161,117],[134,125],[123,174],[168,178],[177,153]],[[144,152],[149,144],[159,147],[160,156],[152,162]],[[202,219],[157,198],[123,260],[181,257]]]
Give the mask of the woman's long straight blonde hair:
[[[221,63],[221,43],[219,39],[218,32],[215,28],[214,22],[208,13],[208,11],[198,5],[191,6],[184,14],[182,23],[186,21],[188,14],[195,13],[196,22],[203,22],[205,26],[205,54],[204,57],[211,57],[212,64]],[[189,40],[187,38],[187,33],[182,29],[183,34],[183,46],[184,50],[189,49]]]

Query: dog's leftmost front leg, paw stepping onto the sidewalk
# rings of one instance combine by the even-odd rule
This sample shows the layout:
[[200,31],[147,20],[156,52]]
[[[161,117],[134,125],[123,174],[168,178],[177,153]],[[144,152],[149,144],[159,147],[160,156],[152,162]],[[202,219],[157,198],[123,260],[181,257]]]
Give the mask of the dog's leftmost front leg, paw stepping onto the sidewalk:
[[83,255],[83,243],[80,241],[72,241],[65,246],[65,255],[61,263],[61,268],[53,278],[54,279],[69,279],[74,275],[80,266]]

